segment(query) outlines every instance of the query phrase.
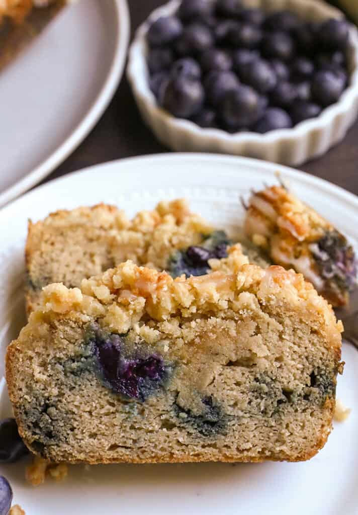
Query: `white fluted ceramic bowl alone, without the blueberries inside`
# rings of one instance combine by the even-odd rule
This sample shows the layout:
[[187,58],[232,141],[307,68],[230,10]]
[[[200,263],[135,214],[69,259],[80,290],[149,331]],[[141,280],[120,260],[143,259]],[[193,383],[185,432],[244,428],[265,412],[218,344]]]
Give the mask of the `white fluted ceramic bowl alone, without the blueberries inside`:
[[[243,3],[265,10],[289,9],[311,21],[343,16],[342,12],[320,0],[245,0]],[[220,129],[203,129],[189,120],[175,118],[157,105],[150,91],[146,32],[152,21],[159,16],[173,14],[179,4],[179,0],[173,0],[156,9],[139,27],[129,50],[127,66],[127,77],[139,110],[162,143],[177,151],[221,152],[298,165],[322,155],[344,138],[358,114],[358,33],[355,27],[351,26],[349,38],[350,83],[336,104],[292,129],[265,134],[229,134]]]

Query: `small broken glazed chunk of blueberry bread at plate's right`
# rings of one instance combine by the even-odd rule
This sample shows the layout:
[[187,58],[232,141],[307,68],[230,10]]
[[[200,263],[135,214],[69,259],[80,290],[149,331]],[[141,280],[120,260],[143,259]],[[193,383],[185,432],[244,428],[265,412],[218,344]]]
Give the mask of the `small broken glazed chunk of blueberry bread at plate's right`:
[[254,192],[245,232],[272,262],[293,267],[333,306],[349,300],[356,259],[346,237],[282,186]]

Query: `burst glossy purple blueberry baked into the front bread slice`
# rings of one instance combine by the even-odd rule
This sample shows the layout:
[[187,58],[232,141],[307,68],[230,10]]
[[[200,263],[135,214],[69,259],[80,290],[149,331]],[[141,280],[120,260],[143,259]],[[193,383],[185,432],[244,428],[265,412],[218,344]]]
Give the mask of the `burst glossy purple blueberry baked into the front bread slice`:
[[[105,334],[94,328],[90,341],[98,359],[100,372],[109,387],[129,399],[145,401],[166,379],[163,358],[157,354],[145,357],[125,354],[125,337]],[[145,351],[143,351],[145,352]]]

